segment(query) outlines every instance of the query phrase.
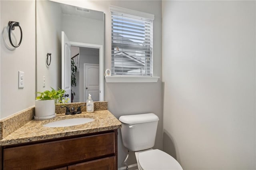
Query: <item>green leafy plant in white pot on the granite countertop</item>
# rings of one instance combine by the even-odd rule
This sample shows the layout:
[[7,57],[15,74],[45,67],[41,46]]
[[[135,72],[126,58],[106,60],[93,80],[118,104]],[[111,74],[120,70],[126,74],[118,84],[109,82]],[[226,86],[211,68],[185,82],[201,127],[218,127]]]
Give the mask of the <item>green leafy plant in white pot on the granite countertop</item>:
[[64,98],[65,90],[55,90],[52,87],[51,89],[51,91],[37,92],[40,95],[36,97],[34,119],[44,120],[56,117],[55,104],[68,102]]

